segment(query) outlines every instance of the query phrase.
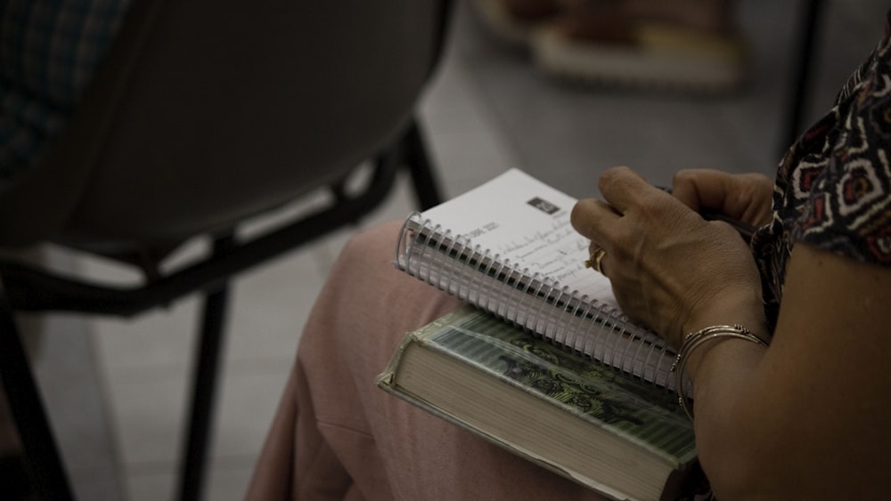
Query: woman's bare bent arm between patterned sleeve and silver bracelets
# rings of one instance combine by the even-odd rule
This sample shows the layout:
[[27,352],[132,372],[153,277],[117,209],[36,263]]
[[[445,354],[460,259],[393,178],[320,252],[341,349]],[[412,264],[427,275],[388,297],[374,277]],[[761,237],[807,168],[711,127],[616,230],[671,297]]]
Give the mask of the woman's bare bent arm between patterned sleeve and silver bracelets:
[[[887,304],[891,269],[799,245],[770,347],[732,339],[697,350],[697,448],[719,499],[887,497]],[[700,321],[761,334],[736,306],[709,314]]]

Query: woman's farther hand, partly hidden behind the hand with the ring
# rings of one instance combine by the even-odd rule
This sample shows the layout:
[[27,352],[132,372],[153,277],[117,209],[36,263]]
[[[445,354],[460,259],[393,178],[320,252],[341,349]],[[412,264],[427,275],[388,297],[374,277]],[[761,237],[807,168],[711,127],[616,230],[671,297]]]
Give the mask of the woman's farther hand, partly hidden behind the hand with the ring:
[[755,227],[771,221],[773,182],[764,174],[686,169],[674,174],[672,194],[695,212],[714,209]]

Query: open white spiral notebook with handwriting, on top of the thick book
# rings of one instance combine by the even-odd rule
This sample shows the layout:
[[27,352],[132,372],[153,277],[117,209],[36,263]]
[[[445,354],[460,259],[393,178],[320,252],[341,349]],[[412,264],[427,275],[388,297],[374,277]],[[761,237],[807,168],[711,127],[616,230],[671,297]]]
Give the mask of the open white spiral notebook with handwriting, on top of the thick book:
[[568,350],[674,389],[675,353],[584,267],[576,199],[511,169],[405,220],[396,267]]

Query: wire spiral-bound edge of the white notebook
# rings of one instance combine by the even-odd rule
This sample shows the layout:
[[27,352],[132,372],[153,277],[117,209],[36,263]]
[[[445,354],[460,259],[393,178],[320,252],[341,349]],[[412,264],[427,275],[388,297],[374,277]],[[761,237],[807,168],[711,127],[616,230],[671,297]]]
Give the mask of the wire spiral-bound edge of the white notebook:
[[396,266],[448,294],[567,349],[674,389],[674,353],[620,311],[475,246],[414,213],[398,239]]

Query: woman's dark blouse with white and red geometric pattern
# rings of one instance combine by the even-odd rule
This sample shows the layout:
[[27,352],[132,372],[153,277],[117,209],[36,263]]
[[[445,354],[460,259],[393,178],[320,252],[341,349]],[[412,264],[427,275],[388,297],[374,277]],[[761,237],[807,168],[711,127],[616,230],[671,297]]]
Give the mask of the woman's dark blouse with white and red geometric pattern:
[[753,250],[775,324],[792,246],[891,265],[891,12],[879,46],[782,159]]

